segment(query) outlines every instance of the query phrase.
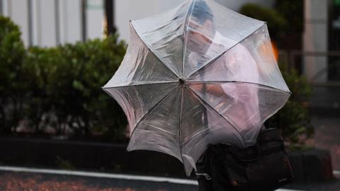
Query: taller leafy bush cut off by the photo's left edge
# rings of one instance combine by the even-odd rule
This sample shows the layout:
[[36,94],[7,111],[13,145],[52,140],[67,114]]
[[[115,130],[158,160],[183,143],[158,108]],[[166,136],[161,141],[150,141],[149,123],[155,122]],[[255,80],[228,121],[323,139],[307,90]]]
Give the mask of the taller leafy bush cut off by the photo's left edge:
[[23,117],[25,47],[18,25],[0,16],[0,133],[11,132]]

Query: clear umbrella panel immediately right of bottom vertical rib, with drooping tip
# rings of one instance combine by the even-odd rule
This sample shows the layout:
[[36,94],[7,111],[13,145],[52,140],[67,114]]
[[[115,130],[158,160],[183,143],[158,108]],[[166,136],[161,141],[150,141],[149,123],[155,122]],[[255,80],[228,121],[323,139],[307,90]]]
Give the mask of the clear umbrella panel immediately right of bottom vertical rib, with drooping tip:
[[181,153],[187,175],[196,168],[208,144],[229,142],[244,146],[239,132],[188,88],[183,88],[181,114]]

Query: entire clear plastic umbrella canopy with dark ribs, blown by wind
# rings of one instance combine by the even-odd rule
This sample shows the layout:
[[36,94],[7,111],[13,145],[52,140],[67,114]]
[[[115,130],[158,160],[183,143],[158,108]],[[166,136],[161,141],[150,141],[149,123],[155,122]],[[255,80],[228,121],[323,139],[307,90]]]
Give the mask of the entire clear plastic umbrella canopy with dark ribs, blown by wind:
[[128,151],[169,154],[190,175],[208,144],[254,145],[290,96],[263,21],[189,0],[130,27],[123,62],[103,86],[128,117]]

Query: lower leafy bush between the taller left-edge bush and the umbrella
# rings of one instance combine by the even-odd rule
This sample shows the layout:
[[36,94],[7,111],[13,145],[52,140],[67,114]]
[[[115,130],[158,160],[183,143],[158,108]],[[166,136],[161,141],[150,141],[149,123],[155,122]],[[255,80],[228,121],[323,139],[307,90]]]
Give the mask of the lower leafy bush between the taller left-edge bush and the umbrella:
[[124,137],[125,115],[101,90],[125,54],[125,44],[117,43],[117,38],[114,35],[75,45],[28,49],[27,71],[35,76],[30,82],[34,91],[28,118],[35,132],[50,125],[57,134],[67,134],[65,131],[71,129],[76,137],[91,132],[114,140]]

